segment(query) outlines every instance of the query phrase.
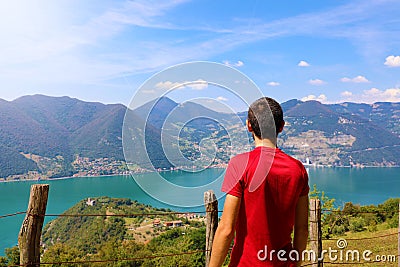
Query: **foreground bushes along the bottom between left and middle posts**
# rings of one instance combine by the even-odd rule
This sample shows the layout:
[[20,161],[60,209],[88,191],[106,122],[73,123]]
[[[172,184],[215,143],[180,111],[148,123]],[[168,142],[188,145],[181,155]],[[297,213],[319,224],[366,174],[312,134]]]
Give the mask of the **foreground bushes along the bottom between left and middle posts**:
[[[74,242],[68,244],[57,242],[49,246],[42,257],[42,262],[82,262],[105,261],[98,266],[204,266],[205,228],[173,228],[153,238],[146,245],[134,240],[118,238],[95,244],[93,253],[78,249]],[[78,244],[80,243],[77,241]],[[182,254],[202,250],[199,253]],[[163,256],[182,254],[178,256]],[[157,257],[158,256],[158,257]],[[50,265],[52,266],[52,265]],[[60,266],[60,265],[54,265]],[[76,266],[61,264],[61,266]],[[91,266],[80,263],[80,266]]]

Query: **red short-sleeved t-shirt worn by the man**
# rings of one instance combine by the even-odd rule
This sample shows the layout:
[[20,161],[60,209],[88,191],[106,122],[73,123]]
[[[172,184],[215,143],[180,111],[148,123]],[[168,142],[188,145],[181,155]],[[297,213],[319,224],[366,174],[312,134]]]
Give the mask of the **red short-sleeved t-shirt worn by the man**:
[[[309,192],[303,164],[278,148],[256,147],[229,161],[222,191],[242,198],[229,266],[292,266],[295,209]],[[277,259],[279,250],[288,261]]]

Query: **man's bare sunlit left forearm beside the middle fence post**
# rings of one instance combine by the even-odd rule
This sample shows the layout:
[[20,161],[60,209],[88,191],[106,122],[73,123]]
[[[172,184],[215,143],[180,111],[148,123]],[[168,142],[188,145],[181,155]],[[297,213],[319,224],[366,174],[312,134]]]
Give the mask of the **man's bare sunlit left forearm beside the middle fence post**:
[[235,234],[240,201],[239,197],[226,195],[224,212],[214,236],[209,267],[220,267],[224,263]]

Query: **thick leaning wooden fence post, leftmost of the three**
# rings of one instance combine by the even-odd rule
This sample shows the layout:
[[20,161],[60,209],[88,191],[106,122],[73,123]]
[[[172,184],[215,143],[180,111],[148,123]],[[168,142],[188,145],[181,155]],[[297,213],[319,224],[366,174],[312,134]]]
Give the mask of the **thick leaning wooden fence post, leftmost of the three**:
[[18,236],[20,264],[23,266],[40,266],[40,237],[48,194],[48,184],[34,184],[31,187],[28,209]]

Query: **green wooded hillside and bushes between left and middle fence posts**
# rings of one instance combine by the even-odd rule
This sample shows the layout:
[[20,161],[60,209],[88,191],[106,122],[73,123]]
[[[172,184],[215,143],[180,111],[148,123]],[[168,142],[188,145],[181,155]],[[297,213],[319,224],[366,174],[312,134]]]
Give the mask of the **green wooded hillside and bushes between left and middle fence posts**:
[[[173,214],[162,215],[169,210],[155,209],[129,199],[101,197],[94,200],[93,206],[82,200],[65,212],[83,216],[59,217],[46,225],[42,236],[42,262],[102,260],[107,262],[97,263],[98,266],[204,266],[204,252],[154,258],[204,250],[204,223],[182,219],[182,227],[155,227],[154,219],[165,222],[179,218]],[[140,216],[148,213],[157,215]],[[104,216],[91,216],[97,214]],[[118,214],[134,216],[112,216]]]

